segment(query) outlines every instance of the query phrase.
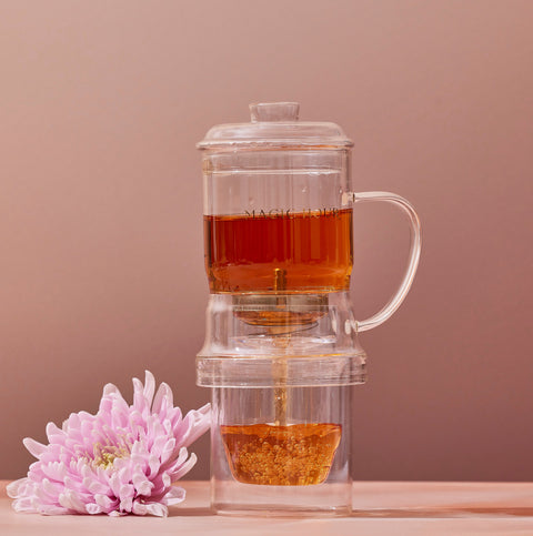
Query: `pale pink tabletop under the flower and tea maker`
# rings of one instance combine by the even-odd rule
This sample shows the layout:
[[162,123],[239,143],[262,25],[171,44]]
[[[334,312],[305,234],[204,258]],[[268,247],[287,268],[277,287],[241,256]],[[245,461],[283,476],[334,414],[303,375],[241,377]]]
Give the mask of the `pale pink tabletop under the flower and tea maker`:
[[533,483],[358,482],[343,518],[215,516],[209,483],[184,481],[185,500],[167,518],[17,514],[0,481],[0,534],[533,535]]

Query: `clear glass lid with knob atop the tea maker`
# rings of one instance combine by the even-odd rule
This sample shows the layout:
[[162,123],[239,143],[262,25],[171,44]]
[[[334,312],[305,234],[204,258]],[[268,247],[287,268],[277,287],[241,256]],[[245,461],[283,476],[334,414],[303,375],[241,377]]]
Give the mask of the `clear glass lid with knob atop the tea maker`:
[[250,104],[250,123],[227,123],[211,128],[198,149],[224,148],[351,148],[352,140],[335,123],[299,121],[298,102]]

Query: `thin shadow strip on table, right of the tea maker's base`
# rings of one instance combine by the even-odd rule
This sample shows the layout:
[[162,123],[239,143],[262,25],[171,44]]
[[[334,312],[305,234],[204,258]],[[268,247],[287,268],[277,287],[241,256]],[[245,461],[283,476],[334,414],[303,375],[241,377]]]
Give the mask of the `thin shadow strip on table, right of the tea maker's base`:
[[533,517],[533,507],[529,506],[464,506],[450,508],[393,508],[353,510],[351,517],[473,517],[473,516],[515,516]]

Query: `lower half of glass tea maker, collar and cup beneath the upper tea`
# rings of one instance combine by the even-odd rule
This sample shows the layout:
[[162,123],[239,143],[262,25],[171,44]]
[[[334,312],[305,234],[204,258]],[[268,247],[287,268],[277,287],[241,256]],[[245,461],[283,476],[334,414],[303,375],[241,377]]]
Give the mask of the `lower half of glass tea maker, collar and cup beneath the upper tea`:
[[356,327],[345,292],[211,294],[197,383],[212,391],[218,514],[350,513]]

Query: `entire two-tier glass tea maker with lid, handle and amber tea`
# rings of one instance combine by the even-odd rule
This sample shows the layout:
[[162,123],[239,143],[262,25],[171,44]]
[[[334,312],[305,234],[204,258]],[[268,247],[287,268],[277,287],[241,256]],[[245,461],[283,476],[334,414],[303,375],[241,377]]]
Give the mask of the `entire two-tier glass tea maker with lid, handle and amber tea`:
[[[353,143],[296,103],[250,107],[211,129],[203,151],[207,334],[198,384],[212,388],[212,505],[222,514],[344,515],[351,509],[352,386],[365,381],[358,333],[400,306],[420,256],[411,204],[354,193]],[[352,210],[402,209],[408,270],[390,302],[356,321],[350,303]]]

